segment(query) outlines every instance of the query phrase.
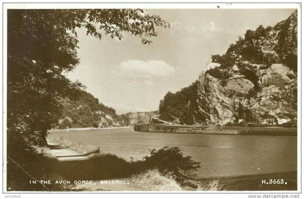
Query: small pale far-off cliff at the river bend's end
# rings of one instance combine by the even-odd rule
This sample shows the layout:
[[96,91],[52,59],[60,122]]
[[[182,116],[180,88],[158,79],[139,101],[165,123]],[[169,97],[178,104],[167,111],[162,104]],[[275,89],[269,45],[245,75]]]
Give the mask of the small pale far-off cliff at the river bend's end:
[[151,112],[137,112],[137,113],[126,113],[120,115],[126,125],[133,124],[149,124],[152,121],[152,118],[157,116],[158,111]]

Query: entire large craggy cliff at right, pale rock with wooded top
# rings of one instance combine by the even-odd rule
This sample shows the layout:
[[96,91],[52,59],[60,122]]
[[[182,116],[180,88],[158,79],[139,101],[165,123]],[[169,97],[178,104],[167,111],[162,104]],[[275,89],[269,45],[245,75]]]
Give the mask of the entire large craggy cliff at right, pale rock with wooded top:
[[195,123],[282,124],[297,120],[297,12],[247,31],[199,76]]

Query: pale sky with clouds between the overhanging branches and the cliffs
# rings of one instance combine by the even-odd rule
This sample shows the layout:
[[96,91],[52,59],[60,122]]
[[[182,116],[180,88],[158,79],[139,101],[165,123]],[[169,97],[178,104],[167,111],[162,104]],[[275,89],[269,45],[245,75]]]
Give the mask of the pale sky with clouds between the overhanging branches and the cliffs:
[[246,30],[275,26],[295,9],[145,9],[171,23],[152,44],[123,33],[101,40],[77,30],[80,64],[67,74],[116,113],[158,109],[159,101],[198,79],[212,54],[224,54]]

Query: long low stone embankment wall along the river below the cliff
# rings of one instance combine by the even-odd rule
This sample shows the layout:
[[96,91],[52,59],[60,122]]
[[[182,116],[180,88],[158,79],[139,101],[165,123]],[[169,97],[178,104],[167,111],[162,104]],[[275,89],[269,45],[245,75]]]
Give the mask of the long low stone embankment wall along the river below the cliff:
[[136,124],[134,131],[188,134],[297,136],[297,128],[282,127],[206,127],[162,124]]

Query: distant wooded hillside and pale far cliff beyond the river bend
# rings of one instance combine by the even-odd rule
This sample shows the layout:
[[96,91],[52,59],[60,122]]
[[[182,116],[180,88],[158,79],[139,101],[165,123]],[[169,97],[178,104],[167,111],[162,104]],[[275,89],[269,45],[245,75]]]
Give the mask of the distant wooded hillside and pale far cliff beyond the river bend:
[[105,106],[92,94],[81,91],[77,100],[62,99],[63,114],[54,128],[122,127],[133,124],[149,124],[158,111],[117,115],[112,107]]

